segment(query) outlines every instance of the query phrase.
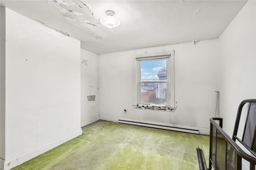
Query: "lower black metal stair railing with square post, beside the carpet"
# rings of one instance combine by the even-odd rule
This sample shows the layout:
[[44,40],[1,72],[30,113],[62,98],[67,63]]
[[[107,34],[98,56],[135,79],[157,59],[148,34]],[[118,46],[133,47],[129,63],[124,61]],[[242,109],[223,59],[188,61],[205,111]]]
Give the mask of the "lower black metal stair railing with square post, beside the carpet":
[[256,164],[256,157],[246,153],[222,129],[222,118],[210,119],[209,155],[208,170],[242,170],[242,159],[250,162],[250,170],[254,170]]

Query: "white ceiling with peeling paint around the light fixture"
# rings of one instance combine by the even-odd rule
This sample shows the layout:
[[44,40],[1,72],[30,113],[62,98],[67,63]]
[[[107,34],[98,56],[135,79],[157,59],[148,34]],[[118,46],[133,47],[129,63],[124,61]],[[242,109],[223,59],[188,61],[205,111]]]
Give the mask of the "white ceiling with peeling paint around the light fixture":
[[[81,41],[97,54],[217,39],[247,0],[1,0],[1,5]],[[121,24],[107,28],[107,10]],[[75,15],[73,12],[79,12]],[[86,23],[87,22],[87,23]],[[89,23],[90,22],[90,23]],[[101,37],[102,39],[96,39]]]

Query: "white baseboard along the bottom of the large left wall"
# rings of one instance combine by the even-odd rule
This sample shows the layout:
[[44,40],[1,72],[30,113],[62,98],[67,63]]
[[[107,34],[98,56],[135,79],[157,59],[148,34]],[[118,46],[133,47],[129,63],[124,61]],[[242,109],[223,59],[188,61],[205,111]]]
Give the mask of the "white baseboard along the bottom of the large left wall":
[[[0,160],[1,162],[1,170],[10,170],[11,168],[14,168],[15,166],[18,166],[52,148],[55,148],[56,146],[59,146],[60,144],[63,144],[67,142],[68,140],[71,140],[79,135],[82,134],[82,129],[79,128],[77,130],[74,130],[73,132],[66,134],[64,136],[61,136],[59,138],[56,138],[50,142],[47,142],[41,146],[38,146],[37,148],[34,148],[32,150],[28,150],[26,152],[20,153],[18,155],[15,155],[11,158],[8,158],[6,160]],[[3,166],[2,166],[3,164]]]

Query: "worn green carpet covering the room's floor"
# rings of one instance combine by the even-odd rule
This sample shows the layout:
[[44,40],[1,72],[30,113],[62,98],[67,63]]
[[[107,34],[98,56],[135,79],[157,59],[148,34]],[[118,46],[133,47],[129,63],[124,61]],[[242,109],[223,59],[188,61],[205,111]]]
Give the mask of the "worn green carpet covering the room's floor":
[[209,136],[97,121],[82,135],[12,170],[198,170]]

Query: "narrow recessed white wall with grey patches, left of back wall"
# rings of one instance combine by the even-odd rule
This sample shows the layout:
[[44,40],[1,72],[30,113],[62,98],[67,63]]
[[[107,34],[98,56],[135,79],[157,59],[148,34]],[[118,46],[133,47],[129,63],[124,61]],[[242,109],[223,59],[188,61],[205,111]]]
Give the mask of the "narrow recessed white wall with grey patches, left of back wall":
[[[81,49],[81,127],[100,119],[98,113],[98,55]],[[95,100],[90,96],[95,95]],[[89,100],[88,100],[89,97]]]

